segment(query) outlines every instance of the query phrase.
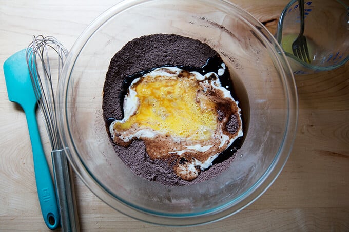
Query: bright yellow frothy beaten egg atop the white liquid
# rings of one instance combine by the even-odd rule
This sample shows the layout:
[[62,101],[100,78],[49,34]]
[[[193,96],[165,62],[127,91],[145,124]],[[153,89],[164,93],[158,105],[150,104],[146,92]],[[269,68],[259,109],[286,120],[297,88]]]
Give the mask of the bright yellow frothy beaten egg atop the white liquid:
[[139,106],[125,122],[115,123],[114,129],[125,131],[137,125],[197,141],[208,140],[215,133],[215,103],[202,93],[195,78],[145,75],[131,88]]

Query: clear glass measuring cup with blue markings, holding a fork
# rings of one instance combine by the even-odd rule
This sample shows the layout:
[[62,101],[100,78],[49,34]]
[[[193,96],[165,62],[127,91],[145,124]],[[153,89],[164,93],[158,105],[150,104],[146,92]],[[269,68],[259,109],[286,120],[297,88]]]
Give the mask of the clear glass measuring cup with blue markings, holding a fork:
[[338,68],[349,60],[349,1],[304,2],[305,30],[311,64],[293,55],[292,43],[300,31],[298,1],[292,0],[281,13],[276,39],[294,74],[308,74]]

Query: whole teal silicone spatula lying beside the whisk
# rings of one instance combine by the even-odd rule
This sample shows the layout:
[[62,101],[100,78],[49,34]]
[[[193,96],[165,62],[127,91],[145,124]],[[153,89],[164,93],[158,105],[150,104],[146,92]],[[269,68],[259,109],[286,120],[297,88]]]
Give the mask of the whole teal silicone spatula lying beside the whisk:
[[41,212],[49,229],[59,226],[59,210],[49,166],[36,122],[37,100],[26,61],[26,50],[19,51],[4,63],[4,74],[10,101],[20,104],[27,118],[34,172]]

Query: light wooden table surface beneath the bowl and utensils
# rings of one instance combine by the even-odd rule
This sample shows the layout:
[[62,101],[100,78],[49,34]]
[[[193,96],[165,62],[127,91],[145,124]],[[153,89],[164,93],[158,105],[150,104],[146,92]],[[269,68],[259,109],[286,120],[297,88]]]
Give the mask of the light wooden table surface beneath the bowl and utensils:
[[[32,35],[53,35],[68,48],[86,26],[119,1],[0,0],[0,64]],[[275,32],[287,0],[233,0]],[[124,216],[76,176],[83,231],[349,231],[349,64],[296,76],[299,121],[294,147],[275,183],[242,212],[190,228],[155,226]],[[23,111],[10,102],[0,69],[0,230],[48,231],[38,204]],[[45,132],[43,124],[40,131]],[[49,155],[49,142],[43,138]],[[60,231],[60,230],[57,230]]]

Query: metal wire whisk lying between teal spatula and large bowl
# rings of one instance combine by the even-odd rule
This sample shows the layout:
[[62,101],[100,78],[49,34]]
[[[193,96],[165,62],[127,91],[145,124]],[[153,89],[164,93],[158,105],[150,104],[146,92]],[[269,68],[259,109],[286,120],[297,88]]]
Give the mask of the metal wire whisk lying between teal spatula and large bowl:
[[[60,78],[67,54],[67,49],[57,39],[42,35],[33,36],[33,41],[26,50],[31,81],[52,148],[53,174],[62,231],[78,231],[80,227],[77,219],[74,185],[59,137],[54,89],[54,85]],[[57,79],[52,78],[54,76],[53,68],[58,69]]]

